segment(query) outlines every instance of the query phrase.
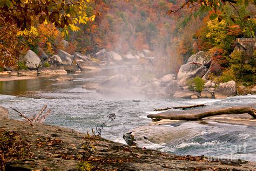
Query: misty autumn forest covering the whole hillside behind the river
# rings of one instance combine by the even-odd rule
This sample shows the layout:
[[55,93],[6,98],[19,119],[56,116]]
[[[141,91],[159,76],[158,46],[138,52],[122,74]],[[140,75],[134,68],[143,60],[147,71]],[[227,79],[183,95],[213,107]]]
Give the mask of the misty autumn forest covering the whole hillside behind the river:
[[[48,3],[48,9],[33,1],[0,3],[2,69],[17,67],[18,58],[29,49],[36,53],[42,49],[49,56],[58,49],[70,54],[102,49],[127,54],[146,49],[154,52],[154,66],[160,74],[177,74],[188,57],[203,50],[218,51],[214,61],[221,71],[217,74],[224,71],[244,81],[255,81],[255,51],[233,52],[237,38],[255,37],[255,1]],[[26,9],[28,5],[31,10]],[[63,40],[69,42],[68,47]]]

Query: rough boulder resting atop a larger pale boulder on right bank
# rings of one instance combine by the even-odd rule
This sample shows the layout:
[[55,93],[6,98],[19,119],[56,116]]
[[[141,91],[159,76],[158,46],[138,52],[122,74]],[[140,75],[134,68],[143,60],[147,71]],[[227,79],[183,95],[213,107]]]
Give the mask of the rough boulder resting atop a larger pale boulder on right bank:
[[205,65],[209,63],[210,60],[211,60],[210,53],[200,51],[200,52],[197,52],[196,54],[193,54],[190,58],[188,58],[187,63]]

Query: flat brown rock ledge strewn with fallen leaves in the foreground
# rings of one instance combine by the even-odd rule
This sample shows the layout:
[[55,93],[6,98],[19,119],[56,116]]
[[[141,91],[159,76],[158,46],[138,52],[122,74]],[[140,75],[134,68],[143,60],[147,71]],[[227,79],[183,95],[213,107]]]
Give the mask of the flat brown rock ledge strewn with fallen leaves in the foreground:
[[5,170],[80,170],[84,153],[93,170],[255,170],[253,162],[208,161],[204,156],[177,156],[130,147],[100,137],[89,142],[87,134],[72,129],[4,119],[0,130],[16,131],[29,142],[31,159],[9,161]]

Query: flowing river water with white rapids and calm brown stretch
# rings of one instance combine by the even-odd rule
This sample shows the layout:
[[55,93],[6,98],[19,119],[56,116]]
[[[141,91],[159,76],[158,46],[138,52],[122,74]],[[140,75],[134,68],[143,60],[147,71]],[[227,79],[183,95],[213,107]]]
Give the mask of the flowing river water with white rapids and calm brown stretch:
[[[151,123],[147,114],[154,108],[207,104],[207,107],[226,107],[250,104],[256,101],[256,95],[238,96],[225,100],[217,99],[172,99],[149,97],[144,94],[100,94],[95,90],[82,88],[85,83],[100,81],[117,73],[137,74],[138,71],[127,67],[90,71],[73,74],[73,81],[54,80],[55,77],[39,77],[30,80],[0,81],[0,105],[14,107],[26,115],[33,115],[44,104],[48,104],[52,114],[45,124],[59,125],[86,132],[95,129],[107,120],[110,113],[116,114],[116,120],[106,123],[102,136],[125,143],[122,136],[132,129]],[[21,119],[14,111],[10,118]],[[219,124],[210,122],[184,122],[180,126],[197,130],[193,136],[177,138],[174,142],[147,143],[147,148],[159,149],[179,155],[207,155],[228,159],[256,161],[255,126]],[[171,126],[169,126],[170,129]],[[192,135],[192,134],[191,134]]]

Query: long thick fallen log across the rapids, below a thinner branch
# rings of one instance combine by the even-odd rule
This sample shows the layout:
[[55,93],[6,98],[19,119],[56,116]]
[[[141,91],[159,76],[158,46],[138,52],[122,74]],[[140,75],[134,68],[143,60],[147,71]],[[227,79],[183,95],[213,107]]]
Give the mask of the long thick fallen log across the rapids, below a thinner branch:
[[[198,111],[198,110],[197,110]],[[170,120],[200,120],[206,117],[213,117],[222,114],[250,114],[254,119],[256,119],[256,110],[252,107],[228,107],[221,108],[220,110],[208,110],[199,114],[192,114],[194,111],[177,111],[177,112],[163,112],[158,114],[149,114],[147,118],[160,118],[160,119],[170,119]]]

